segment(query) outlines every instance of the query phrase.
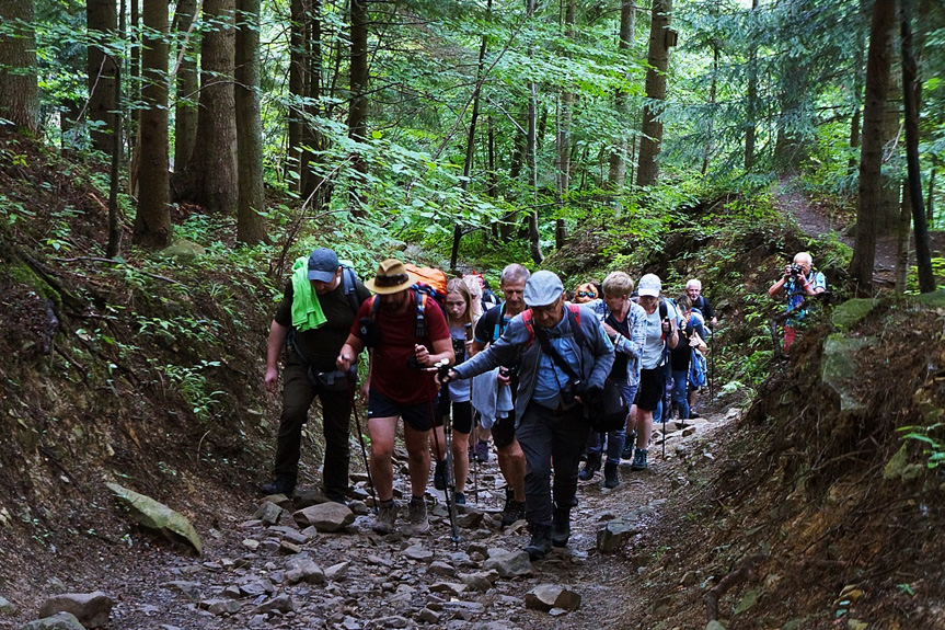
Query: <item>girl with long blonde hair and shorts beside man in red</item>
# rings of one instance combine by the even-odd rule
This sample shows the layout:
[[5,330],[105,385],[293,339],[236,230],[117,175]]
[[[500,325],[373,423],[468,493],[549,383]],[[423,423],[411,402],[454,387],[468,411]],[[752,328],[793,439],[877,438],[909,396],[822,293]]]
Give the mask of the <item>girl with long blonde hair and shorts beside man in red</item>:
[[[472,296],[464,279],[453,278],[447,283],[447,324],[450,329],[456,365],[464,362],[472,353],[473,344],[473,318]],[[456,502],[465,504],[465,484],[469,478],[469,443],[472,433],[472,403],[470,402],[471,382],[469,380],[454,380],[440,389],[439,406],[436,414],[436,439],[434,448],[437,462],[434,468],[434,488],[446,490],[447,488],[447,454],[443,446],[443,424],[446,416],[450,416],[452,423],[452,456],[453,456],[453,483],[456,485]],[[452,408],[452,411],[450,411]]]

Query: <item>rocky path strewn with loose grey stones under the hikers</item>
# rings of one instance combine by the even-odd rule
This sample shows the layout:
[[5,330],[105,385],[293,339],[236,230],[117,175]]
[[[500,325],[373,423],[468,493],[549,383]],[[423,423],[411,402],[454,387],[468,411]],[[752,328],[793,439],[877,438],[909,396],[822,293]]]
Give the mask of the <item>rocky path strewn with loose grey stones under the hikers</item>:
[[[685,471],[713,457],[714,432],[735,415],[669,423],[667,457],[654,445],[649,470],[631,472],[624,462],[619,488],[602,488],[600,476],[581,484],[568,549],[535,563],[520,551],[525,523],[499,527],[504,494],[493,457],[480,468],[479,501],[468,491],[459,545],[433,490],[430,534],[373,534],[360,480],[365,501],[354,501],[353,513],[312,492],[234,507],[201,532],[199,560],[136,536],[120,557],[100,558],[102,581],[89,591],[116,602],[106,626],[114,629],[622,627],[618,612],[646,579],[634,539],[659,527],[661,505],[685,491]],[[407,488],[403,461],[399,488]],[[399,525],[405,516],[404,508]],[[557,607],[530,595],[537,588]]]

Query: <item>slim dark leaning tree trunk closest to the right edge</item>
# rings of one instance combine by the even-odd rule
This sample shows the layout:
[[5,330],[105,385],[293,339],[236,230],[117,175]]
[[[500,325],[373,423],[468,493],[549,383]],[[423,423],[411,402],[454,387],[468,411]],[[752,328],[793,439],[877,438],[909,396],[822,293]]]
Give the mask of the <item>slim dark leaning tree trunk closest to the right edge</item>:
[[902,96],[906,112],[906,162],[909,172],[908,195],[915,226],[915,263],[919,267],[919,291],[935,290],[932,252],[925,209],[922,207],[922,173],[919,170],[919,105],[921,103],[919,67],[912,54],[912,0],[900,0],[900,35],[902,42]]

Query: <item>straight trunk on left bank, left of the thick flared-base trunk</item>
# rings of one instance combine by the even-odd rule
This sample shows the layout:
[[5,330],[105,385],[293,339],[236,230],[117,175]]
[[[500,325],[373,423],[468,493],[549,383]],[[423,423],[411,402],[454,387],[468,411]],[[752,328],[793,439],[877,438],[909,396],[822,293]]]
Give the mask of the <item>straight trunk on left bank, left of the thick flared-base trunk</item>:
[[145,3],[140,112],[140,191],[134,241],[147,248],[171,242],[168,157],[168,0]]

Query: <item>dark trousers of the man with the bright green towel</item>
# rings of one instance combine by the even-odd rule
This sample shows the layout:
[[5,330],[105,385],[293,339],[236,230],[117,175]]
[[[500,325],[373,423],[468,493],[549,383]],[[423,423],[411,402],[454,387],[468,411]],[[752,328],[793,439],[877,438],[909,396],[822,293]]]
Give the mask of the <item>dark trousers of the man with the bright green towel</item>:
[[350,449],[348,434],[352,419],[352,393],[318,391],[309,381],[306,367],[289,362],[283,373],[283,415],[276,449],[276,478],[296,482],[299,477],[302,425],[315,397],[322,402],[322,429],[325,436],[325,459],[322,481],[329,497],[342,497],[348,492]]

